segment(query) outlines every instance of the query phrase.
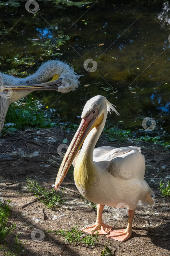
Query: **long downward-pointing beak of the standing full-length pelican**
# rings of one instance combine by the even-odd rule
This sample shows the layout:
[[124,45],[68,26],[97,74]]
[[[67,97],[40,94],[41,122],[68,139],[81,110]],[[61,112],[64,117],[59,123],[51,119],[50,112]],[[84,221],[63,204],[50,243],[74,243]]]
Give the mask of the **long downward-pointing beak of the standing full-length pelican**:
[[91,120],[82,119],[78,130],[76,131],[70,146],[67,149],[67,152],[63,158],[62,164],[60,165],[59,172],[55,181],[55,189],[62,184],[68,169],[70,168],[72,161],[76,157],[80,147],[82,146],[84,140],[86,139],[88,133],[98,125],[101,124],[103,120],[103,113],[100,117],[93,117]]

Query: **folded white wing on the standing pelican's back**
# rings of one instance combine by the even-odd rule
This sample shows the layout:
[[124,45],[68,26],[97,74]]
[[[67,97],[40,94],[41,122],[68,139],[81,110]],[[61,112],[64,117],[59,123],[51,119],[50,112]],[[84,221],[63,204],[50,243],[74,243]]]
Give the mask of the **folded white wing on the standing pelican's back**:
[[145,158],[139,147],[121,147],[94,159],[101,170],[108,170],[123,180],[144,179]]

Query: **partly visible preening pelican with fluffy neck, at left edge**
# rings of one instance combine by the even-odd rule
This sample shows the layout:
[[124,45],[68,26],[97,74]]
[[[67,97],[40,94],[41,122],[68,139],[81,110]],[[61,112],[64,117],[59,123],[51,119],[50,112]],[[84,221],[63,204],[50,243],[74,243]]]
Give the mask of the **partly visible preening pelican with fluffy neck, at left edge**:
[[[45,62],[35,74],[25,78],[0,72],[0,131],[12,102],[35,90],[56,90],[60,93],[68,93],[78,87],[78,78],[72,67],[59,60]],[[52,80],[47,82],[49,79]]]

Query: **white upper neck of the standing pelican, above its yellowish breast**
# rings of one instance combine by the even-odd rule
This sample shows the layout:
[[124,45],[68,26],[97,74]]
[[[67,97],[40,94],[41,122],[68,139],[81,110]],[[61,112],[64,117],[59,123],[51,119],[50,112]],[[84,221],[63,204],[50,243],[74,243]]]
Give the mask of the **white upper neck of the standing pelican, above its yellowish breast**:
[[93,151],[94,147],[103,131],[104,125],[106,123],[107,118],[107,110],[103,112],[103,120],[98,127],[94,127],[87,135],[86,139],[84,140],[82,150],[80,152],[80,157],[82,159],[87,158],[88,161],[92,161],[93,159]]

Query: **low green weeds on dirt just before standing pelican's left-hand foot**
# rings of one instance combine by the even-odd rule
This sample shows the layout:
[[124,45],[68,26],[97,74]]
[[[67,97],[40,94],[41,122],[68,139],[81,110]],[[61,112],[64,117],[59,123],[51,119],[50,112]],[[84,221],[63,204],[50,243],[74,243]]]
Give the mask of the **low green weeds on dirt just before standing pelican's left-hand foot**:
[[[72,227],[71,231],[60,229],[59,231],[54,231],[56,234],[61,234],[62,237],[66,238],[67,242],[74,242],[75,244],[87,244],[94,245],[98,242],[98,231],[94,235],[85,235],[83,231],[78,230],[78,225]],[[51,230],[50,230],[51,231]]]

